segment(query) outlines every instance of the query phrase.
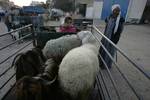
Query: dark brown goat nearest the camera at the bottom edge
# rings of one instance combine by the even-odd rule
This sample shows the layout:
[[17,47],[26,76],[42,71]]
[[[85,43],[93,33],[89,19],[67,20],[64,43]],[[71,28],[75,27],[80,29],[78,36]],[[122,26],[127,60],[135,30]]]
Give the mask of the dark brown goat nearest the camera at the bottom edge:
[[69,100],[65,99],[56,78],[52,81],[41,77],[24,76],[15,86],[17,100]]

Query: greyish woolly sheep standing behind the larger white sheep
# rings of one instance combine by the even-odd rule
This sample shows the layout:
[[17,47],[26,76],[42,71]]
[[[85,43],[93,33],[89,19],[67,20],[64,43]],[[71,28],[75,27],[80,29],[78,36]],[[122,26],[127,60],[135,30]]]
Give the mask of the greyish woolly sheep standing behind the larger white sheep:
[[80,45],[81,41],[77,35],[66,35],[49,40],[43,49],[43,54],[47,59],[53,58],[56,63],[60,63],[69,50]]

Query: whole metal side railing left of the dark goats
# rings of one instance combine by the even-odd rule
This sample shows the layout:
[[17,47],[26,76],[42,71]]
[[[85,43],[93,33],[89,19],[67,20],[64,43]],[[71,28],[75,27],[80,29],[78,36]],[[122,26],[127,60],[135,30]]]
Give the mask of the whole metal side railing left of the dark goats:
[[[24,30],[24,29],[29,28],[29,27],[32,28],[30,34],[27,34],[27,35],[21,37],[20,39],[15,40],[15,41],[13,41],[12,43],[9,43],[9,44],[7,44],[7,45],[1,47],[1,48],[0,48],[0,51],[2,51],[2,50],[4,50],[4,49],[6,49],[6,48],[12,46],[13,44],[18,43],[19,41],[21,41],[21,40],[23,40],[23,39],[25,39],[25,38],[27,38],[27,37],[32,36],[32,39],[34,39],[34,36],[35,36],[35,35],[34,35],[34,31],[33,31],[32,24],[23,26],[23,27],[21,27],[21,28],[15,29],[15,30],[10,31],[10,32],[3,33],[2,35],[0,35],[0,37],[6,36],[6,35],[10,35],[10,34],[13,33],[13,32],[21,31],[21,30]],[[9,55],[9,56],[6,57],[5,59],[3,59],[3,60],[0,62],[0,65],[4,64],[6,61],[8,61],[10,58],[14,57],[16,54],[18,54],[20,51],[24,50],[26,47],[28,47],[28,46],[31,45],[32,43],[33,43],[33,40],[27,42],[25,45],[23,45],[23,46],[20,47],[19,49],[15,50],[15,52],[13,52],[11,55]],[[13,68],[13,66],[10,66],[10,67],[6,68],[3,72],[1,72],[1,73],[0,73],[0,79],[1,79],[4,75],[6,75],[7,72],[10,71],[12,68]],[[16,74],[16,73],[14,72],[11,76],[9,76],[8,79],[5,80],[5,82],[4,82],[3,84],[1,84],[1,86],[0,86],[0,91],[2,91],[3,88],[4,88],[6,85],[8,85],[8,83],[9,83],[13,78],[15,78],[15,74]],[[14,86],[14,85],[13,85],[13,86]],[[0,99],[3,100],[3,99],[8,95],[8,93],[9,93],[10,90],[13,88],[13,86],[11,86],[11,88],[10,88],[8,91],[6,91],[6,93],[5,93],[5,94],[3,95],[3,97],[0,98]]]

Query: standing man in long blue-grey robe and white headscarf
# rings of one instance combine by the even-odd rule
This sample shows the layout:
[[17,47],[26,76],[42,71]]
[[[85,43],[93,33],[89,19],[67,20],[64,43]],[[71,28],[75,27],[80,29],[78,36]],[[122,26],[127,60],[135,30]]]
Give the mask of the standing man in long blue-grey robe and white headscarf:
[[[121,7],[119,4],[115,4],[112,6],[112,14],[106,18],[105,22],[106,27],[104,35],[108,39],[110,39],[114,44],[117,44],[120,38],[120,34],[122,33],[124,23],[124,18],[121,17]],[[116,53],[115,47],[111,45],[104,37],[102,38],[101,42],[108,50],[108,52],[111,54],[111,56],[114,57]],[[102,48],[102,46],[100,47],[99,51],[108,68],[111,68],[112,60],[105,52],[105,50]],[[100,66],[102,69],[105,68],[101,59],[100,59]]]

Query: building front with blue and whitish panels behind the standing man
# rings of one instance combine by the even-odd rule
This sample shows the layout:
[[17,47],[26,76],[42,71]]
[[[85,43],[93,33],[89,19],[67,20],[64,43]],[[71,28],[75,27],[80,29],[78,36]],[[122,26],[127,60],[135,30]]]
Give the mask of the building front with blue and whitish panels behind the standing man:
[[[86,4],[86,18],[104,20],[111,14],[113,4],[121,6],[121,15],[126,22],[139,23],[142,18],[150,19],[150,0],[77,0]],[[146,10],[146,11],[145,11]],[[143,17],[144,16],[144,17]]]

